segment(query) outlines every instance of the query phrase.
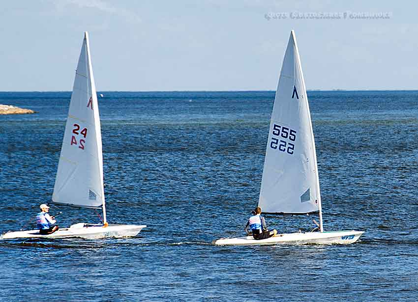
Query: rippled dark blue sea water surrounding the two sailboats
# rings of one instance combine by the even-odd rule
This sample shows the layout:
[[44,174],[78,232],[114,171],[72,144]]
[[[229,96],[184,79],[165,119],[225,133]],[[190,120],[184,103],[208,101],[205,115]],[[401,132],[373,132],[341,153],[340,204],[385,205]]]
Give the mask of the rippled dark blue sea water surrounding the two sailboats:
[[[418,92],[309,92],[326,230],[349,246],[215,247],[256,206],[273,92],[99,92],[108,220],[135,238],[0,241],[4,301],[416,301]],[[51,200],[69,92],[0,92],[0,233]],[[53,205],[61,226],[96,213]],[[315,218],[315,217],[314,217]],[[266,216],[281,232],[308,217]],[[317,218],[316,218],[317,219]],[[29,223],[28,223],[29,221]]]

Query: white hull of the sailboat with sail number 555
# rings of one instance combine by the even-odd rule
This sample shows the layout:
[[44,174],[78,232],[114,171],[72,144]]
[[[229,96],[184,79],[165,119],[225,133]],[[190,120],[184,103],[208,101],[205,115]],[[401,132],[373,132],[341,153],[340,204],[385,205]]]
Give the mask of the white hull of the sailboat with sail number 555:
[[335,232],[309,232],[277,234],[274,237],[263,240],[255,240],[253,236],[218,239],[215,245],[223,246],[252,246],[252,245],[348,245],[355,243],[363,234],[362,231],[335,231]]

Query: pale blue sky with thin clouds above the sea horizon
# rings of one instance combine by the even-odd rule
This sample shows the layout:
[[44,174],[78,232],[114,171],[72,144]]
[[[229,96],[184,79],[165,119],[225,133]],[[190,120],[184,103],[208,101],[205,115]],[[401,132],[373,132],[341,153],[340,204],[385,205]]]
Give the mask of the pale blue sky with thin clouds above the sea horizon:
[[84,31],[98,91],[275,90],[291,29],[308,90],[418,89],[417,12],[386,0],[4,0],[0,91],[71,91]]

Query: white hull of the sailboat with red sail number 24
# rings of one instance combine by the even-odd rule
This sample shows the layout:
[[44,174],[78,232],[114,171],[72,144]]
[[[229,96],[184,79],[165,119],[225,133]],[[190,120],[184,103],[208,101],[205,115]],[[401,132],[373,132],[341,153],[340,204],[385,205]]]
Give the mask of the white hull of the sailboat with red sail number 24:
[[62,228],[49,235],[40,235],[39,230],[8,232],[3,234],[1,239],[15,238],[84,238],[98,239],[105,237],[133,237],[136,236],[146,225],[133,224],[109,224],[107,227],[102,225],[85,226],[84,223],[77,223],[69,228]]

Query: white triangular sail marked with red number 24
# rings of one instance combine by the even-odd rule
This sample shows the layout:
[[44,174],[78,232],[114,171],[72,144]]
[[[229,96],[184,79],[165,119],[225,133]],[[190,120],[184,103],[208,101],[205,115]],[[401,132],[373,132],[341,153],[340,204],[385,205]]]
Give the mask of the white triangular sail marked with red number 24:
[[102,137],[87,32],[75,74],[52,200],[82,207],[104,206]]

